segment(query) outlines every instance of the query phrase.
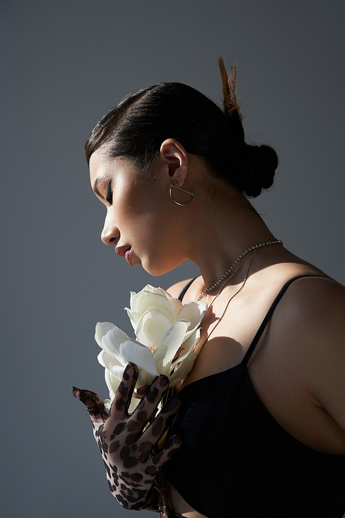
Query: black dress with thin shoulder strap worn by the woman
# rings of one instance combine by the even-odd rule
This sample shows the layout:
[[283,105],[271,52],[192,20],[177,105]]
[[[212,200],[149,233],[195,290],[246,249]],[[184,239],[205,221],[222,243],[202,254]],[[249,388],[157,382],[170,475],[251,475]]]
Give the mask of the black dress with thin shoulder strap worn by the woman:
[[170,434],[183,441],[166,479],[208,518],[342,518],[345,457],[308,448],[273,419],[246,365],[286,282],[243,361],[179,392]]

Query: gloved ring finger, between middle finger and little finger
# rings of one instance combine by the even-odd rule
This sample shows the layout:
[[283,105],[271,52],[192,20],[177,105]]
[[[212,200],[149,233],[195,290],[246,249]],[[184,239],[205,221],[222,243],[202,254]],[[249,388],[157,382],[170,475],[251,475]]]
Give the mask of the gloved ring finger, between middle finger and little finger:
[[145,430],[141,437],[139,450],[143,454],[146,454],[146,458],[152,447],[156,445],[164,434],[164,431],[170,426],[172,420],[175,417],[177,410],[181,405],[181,399],[178,396],[173,396],[168,403],[164,406],[164,409],[159,412],[155,420]]

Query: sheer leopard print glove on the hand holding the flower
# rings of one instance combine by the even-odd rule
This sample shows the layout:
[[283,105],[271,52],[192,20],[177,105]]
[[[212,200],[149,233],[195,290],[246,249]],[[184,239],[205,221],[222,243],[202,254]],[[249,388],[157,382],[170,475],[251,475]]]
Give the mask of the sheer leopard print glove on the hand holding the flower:
[[[106,466],[112,495],[127,509],[158,511],[153,483],[159,470],[178,450],[181,439],[176,435],[171,437],[160,450],[157,450],[157,442],[170,425],[181,401],[173,396],[144,430],[168,390],[169,381],[166,376],[156,378],[135,412],[129,415],[128,407],[137,377],[137,366],[128,363],[108,415],[103,401],[95,392],[76,387],[72,390],[90,413],[93,434]],[[153,448],[156,452],[152,452]]]

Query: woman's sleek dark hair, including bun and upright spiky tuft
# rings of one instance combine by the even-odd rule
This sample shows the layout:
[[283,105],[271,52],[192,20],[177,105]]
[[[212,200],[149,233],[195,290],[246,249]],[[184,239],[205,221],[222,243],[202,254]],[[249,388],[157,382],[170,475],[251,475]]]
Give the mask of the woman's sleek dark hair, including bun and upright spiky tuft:
[[250,197],[273,184],[278,165],[270,146],[244,141],[236,97],[236,71],[219,59],[224,110],[195,88],[159,83],[126,97],[101,119],[86,142],[86,158],[103,144],[110,157],[126,157],[148,174],[162,142],[173,138],[197,155],[211,175]]

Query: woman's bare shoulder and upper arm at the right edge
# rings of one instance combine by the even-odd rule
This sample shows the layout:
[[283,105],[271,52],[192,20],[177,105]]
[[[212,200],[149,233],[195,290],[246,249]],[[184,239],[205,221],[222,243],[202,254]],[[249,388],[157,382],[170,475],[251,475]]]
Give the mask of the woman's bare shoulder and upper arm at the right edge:
[[345,430],[345,287],[331,278],[295,280],[272,325],[282,350],[300,366],[315,404]]

